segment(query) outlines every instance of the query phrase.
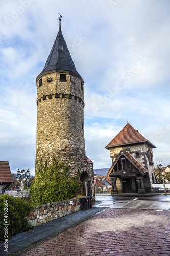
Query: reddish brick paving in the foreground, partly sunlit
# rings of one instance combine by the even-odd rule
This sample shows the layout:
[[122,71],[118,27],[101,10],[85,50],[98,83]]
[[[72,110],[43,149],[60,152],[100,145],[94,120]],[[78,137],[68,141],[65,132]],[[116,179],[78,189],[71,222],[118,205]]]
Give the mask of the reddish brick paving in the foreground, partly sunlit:
[[170,255],[170,211],[107,209],[22,256]]

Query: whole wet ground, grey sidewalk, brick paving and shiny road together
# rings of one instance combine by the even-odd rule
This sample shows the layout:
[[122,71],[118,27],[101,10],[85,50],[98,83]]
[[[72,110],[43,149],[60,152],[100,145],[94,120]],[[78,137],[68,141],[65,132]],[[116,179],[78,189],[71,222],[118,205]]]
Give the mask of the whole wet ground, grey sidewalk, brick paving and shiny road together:
[[[92,209],[12,237],[8,253],[16,256],[170,256],[169,197],[163,194],[97,195]],[[4,254],[1,245],[0,254],[9,255]]]

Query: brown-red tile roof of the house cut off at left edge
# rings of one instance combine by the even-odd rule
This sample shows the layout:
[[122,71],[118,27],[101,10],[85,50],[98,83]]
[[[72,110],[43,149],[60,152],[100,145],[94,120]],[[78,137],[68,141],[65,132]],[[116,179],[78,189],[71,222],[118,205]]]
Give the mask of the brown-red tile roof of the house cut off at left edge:
[[0,182],[13,182],[9,162],[0,161]]

